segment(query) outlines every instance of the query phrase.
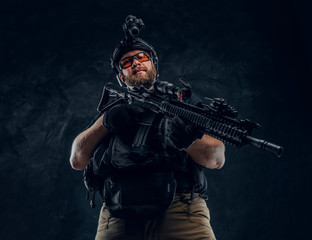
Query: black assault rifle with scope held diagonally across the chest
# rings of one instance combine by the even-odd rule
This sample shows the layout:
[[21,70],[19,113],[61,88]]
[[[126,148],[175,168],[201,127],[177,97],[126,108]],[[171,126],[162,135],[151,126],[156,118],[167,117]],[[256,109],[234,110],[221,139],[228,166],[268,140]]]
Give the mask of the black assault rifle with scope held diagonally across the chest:
[[[251,144],[278,157],[282,155],[283,147],[252,137],[251,131],[260,125],[248,119],[237,119],[237,111],[224,99],[205,98],[210,103],[201,107],[185,103],[183,100],[191,97],[191,86],[183,79],[180,83],[182,88],[156,81],[152,90],[143,86],[130,90],[108,83],[104,86],[97,110],[103,113],[122,102],[137,104],[168,118],[177,115],[186,123],[202,129],[203,133],[235,147]],[[112,98],[114,101],[109,101]]]

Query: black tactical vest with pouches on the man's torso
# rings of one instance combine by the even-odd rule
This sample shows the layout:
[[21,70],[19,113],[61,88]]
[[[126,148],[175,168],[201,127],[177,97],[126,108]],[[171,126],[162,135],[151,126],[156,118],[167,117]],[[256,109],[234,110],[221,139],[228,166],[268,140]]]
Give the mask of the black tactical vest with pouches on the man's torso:
[[170,121],[146,110],[132,137],[110,134],[96,150],[93,172],[114,217],[150,218],[164,212],[176,192],[205,192],[203,167],[167,141]]

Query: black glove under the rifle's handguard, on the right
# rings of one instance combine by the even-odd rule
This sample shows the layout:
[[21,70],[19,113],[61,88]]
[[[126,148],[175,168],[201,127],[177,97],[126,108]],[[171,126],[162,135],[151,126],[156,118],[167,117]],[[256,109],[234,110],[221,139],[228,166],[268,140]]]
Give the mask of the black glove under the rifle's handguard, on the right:
[[203,132],[192,125],[186,124],[178,116],[174,116],[169,125],[168,137],[177,149],[183,150],[188,148],[196,139],[201,139]]

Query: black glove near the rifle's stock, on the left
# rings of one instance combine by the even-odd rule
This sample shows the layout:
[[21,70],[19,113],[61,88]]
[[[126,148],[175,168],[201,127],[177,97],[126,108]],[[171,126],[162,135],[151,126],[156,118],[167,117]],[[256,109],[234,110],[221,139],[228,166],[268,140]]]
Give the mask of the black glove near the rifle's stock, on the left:
[[129,132],[138,124],[144,109],[134,104],[120,104],[104,113],[103,125],[115,133]]

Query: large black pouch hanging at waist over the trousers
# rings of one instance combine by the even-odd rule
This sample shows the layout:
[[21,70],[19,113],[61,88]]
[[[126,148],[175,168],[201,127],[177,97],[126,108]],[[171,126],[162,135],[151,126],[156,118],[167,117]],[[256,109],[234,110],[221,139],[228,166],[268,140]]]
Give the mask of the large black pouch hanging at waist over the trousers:
[[104,183],[104,201],[113,217],[148,219],[165,212],[176,190],[172,172],[124,173]]

